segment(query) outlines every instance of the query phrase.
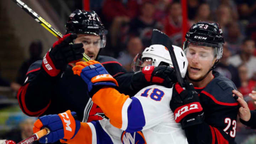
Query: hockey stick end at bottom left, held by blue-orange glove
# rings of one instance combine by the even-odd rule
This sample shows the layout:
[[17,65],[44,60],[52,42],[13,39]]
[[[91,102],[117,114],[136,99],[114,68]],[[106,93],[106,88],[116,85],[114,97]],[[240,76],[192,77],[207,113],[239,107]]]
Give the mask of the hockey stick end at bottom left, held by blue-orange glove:
[[22,141],[18,142],[17,144],[30,144],[33,143],[34,141],[42,138],[43,136],[47,135],[50,133],[50,130],[48,128],[43,128],[39,130],[38,132],[32,134],[30,137],[23,139]]

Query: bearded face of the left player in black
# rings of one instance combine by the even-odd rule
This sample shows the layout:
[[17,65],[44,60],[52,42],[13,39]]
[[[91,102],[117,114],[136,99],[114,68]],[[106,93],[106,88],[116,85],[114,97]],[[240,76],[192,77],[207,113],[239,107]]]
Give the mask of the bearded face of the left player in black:
[[85,50],[85,54],[91,59],[95,60],[98,52],[100,51],[100,41],[100,36],[95,36],[92,34],[78,34],[78,37],[75,39],[74,43],[82,43],[84,45],[83,48]]

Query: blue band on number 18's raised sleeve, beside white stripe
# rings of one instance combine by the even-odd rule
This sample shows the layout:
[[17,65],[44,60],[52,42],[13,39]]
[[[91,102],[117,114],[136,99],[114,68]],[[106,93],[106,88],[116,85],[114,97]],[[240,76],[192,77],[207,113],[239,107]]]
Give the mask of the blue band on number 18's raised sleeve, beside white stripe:
[[132,133],[142,130],[145,126],[145,116],[138,98],[132,97],[132,102],[127,109],[128,126],[126,132]]

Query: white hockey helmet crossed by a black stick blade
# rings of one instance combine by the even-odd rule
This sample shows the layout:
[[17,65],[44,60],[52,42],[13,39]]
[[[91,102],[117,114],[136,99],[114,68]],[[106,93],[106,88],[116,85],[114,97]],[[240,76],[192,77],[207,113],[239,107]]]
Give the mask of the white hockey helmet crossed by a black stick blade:
[[[180,68],[181,76],[184,78],[188,66],[186,55],[182,48],[174,45],[172,45],[172,47],[174,47],[174,53]],[[148,65],[159,66],[163,64],[169,64],[168,66],[174,67],[168,49],[160,44],[151,45],[150,47],[145,48],[142,54],[137,54],[133,60],[132,69],[134,71],[138,71],[142,67],[146,66],[143,65],[146,60],[151,61]]]

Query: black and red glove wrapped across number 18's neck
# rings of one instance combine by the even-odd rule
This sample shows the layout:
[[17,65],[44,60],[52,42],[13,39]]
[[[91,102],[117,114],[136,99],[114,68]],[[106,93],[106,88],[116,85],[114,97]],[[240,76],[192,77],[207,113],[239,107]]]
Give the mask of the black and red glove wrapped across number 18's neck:
[[177,82],[177,78],[174,69],[161,65],[158,67],[145,66],[142,71],[134,73],[131,84],[134,90],[141,90],[152,84],[171,88],[175,82]]

